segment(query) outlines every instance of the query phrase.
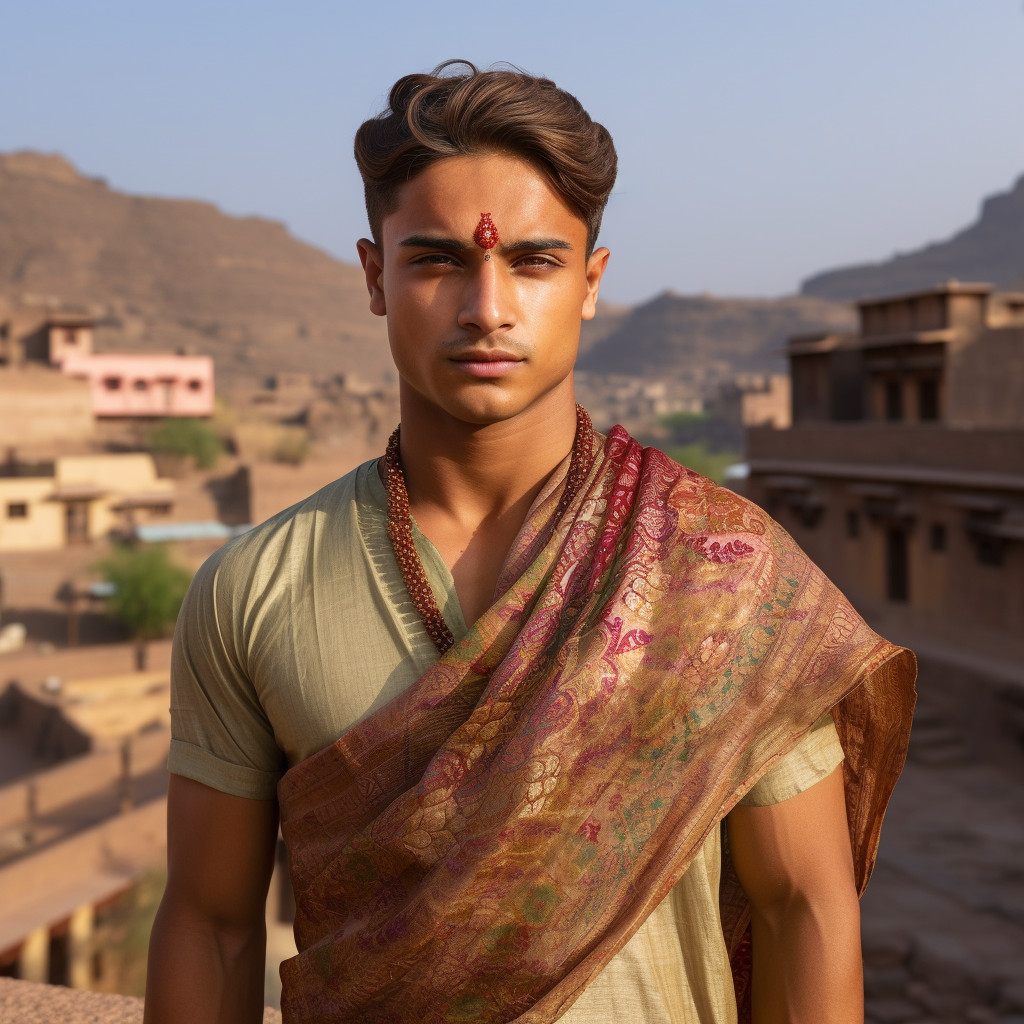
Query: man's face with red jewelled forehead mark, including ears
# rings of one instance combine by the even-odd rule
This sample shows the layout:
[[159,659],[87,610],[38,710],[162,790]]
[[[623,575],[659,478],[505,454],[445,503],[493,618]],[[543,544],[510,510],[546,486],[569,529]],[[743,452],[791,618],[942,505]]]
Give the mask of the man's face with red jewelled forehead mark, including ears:
[[586,224],[531,165],[437,161],[402,186],[381,233],[359,257],[403,412],[485,424],[573,400],[580,322],[594,315],[608,251],[587,258]]

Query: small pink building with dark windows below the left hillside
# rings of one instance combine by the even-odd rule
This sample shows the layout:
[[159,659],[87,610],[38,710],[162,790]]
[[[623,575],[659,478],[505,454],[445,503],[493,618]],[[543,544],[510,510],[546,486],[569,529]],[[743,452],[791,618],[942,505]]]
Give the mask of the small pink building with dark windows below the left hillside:
[[213,414],[209,355],[61,354],[61,371],[89,382],[97,417]]

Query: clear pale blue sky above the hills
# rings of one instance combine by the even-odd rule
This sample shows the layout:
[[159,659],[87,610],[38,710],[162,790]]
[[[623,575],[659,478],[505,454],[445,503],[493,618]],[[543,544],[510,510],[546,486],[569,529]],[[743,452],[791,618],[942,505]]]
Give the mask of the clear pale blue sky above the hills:
[[612,301],[791,293],[947,236],[1024,173],[1022,0],[32,0],[0,38],[0,150],[348,260],[352,134],[395,78],[455,56],[547,75],[618,147]]

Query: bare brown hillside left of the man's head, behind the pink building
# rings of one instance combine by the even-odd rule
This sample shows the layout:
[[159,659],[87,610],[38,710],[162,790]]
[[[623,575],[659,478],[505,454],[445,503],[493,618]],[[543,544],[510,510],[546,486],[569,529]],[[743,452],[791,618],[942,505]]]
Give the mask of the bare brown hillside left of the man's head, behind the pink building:
[[115,191],[58,156],[0,155],[0,297],[88,309],[103,350],[208,353],[221,381],[390,370],[357,266],[270,220]]

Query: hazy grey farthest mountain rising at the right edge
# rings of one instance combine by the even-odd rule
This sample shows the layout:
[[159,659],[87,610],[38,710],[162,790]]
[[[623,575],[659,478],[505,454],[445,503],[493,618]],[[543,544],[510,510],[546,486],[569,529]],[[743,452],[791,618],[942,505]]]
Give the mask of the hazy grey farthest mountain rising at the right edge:
[[808,278],[801,293],[858,299],[928,288],[949,278],[1024,290],[1024,175],[1010,191],[986,199],[978,220],[948,241],[881,263],[826,270]]

